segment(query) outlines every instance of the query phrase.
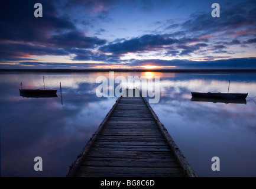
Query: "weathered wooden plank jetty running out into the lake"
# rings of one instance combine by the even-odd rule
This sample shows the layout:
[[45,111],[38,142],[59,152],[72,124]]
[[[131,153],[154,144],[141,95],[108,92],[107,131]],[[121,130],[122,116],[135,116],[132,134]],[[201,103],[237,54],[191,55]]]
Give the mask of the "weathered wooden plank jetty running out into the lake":
[[128,90],[134,96],[116,100],[67,177],[197,177],[140,90]]

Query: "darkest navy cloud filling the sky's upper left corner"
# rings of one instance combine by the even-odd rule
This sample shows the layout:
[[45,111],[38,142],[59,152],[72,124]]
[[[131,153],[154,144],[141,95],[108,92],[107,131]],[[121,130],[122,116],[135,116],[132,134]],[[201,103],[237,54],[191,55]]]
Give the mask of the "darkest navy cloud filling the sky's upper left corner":
[[43,6],[43,19],[34,17],[34,4],[37,1],[2,1],[0,6],[0,39],[38,42],[44,41],[51,30],[73,30],[69,19],[57,15],[51,1],[40,1]]

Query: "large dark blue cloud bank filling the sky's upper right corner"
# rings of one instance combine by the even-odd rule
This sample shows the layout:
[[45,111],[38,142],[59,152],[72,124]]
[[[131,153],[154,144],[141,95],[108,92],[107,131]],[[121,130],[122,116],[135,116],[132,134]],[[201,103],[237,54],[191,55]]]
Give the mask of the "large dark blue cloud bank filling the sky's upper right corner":
[[[179,27],[179,31],[176,31],[176,33],[180,33],[186,36],[186,38],[189,36],[198,39],[209,37],[209,43],[212,43],[211,38],[213,39],[215,35],[217,35],[218,38],[215,38],[214,43],[216,44],[220,41],[220,43],[226,45],[226,49],[228,45],[255,43],[255,1],[244,1],[236,4],[219,2],[219,4],[221,6],[221,17],[219,18],[211,17],[210,12],[212,9],[209,8],[208,11],[205,12],[194,12],[190,15],[190,18],[184,22],[175,22],[172,20],[170,23],[170,21],[167,20],[166,25],[163,25],[163,27],[166,28],[166,30],[175,30]],[[179,35],[173,35],[173,38],[177,37],[179,37]],[[207,38],[205,38],[205,40],[206,39]],[[232,41],[229,39],[232,39]],[[228,49],[226,52],[228,52]],[[189,50],[183,53],[189,53]],[[222,51],[222,53],[224,53],[224,51]]]

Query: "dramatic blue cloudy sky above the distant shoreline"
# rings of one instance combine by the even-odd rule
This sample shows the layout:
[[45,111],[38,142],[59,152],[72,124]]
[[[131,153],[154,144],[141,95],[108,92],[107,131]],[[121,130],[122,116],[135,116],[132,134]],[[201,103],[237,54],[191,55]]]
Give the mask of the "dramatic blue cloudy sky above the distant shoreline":
[[0,4],[0,69],[256,69],[255,0]]

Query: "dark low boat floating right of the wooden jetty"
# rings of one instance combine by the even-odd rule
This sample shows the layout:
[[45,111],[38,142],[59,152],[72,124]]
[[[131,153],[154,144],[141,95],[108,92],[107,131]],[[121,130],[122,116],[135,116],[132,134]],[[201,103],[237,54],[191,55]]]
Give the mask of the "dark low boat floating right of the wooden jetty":
[[191,92],[192,97],[208,98],[208,99],[246,99],[248,93],[197,93]]

